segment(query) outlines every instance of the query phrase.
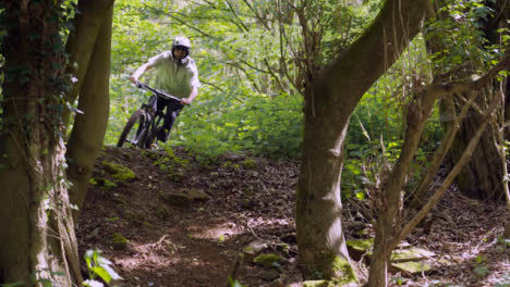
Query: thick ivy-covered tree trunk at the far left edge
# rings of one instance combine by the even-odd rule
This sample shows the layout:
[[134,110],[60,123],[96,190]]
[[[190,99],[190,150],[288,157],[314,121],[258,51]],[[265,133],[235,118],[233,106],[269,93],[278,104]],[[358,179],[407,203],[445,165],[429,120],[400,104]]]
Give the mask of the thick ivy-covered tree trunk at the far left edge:
[[64,180],[61,2],[2,1],[0,283],[80,284]]

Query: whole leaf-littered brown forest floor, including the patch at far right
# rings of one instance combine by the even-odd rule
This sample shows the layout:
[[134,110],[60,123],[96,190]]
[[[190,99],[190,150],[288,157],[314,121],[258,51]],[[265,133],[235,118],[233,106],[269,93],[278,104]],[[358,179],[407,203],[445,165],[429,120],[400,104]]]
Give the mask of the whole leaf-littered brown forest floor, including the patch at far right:
[[[105,161],[136,177],[116,178]],[[293,220],[298,175],[292,161],[228,154],[201,162],[181,149],[169,157],[165,150],[107,147],[81,212],[80,252],[101,250],[123,278],[118,286],[224,287],[240,252],[260,247],[283,261],[265,267],[247,252],[236,269],[243,286],[303,286]],[[373,234],[368,213],[364,202],[345,202],[347,239],[362,229]],[[433,270],[393,271],[391,285],[510,286],[510,245],[501,240],[507,214],[502,203],[449,190],[427,224],[406,238],[434,252]],[[353,263],[364,282],[365,263]]]

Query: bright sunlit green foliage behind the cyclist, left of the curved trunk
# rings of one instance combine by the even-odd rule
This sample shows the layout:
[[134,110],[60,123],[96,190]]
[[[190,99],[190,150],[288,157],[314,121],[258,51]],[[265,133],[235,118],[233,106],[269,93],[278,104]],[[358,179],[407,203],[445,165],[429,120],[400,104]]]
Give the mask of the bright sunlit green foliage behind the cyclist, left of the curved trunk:
[[[204,85],[197,100],[178,117],[172,145],[185,146],[204,162],[228,151],[299,157],[303,103],[291,80],[299,82],[300,72],[295,59],[288,59],[301,50],[303,37],[294,9],[314,15],[309,25],[313,18],[319,22],[323,51],[317,57],[326,63],[369,24],[380,1],[361,5],[321,0],[280,10],[274,5],[270,1],[254,1],[252,7],[236,1],[116,1],[112,104],[105,142],[117,141],[126,118],[147,99],[129,84],[127,75],[168,50],[172,37],[184,34],[192,39],[191,55]],[[281,35],[279,18],[287,36]]]

